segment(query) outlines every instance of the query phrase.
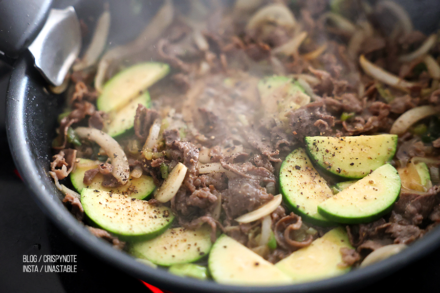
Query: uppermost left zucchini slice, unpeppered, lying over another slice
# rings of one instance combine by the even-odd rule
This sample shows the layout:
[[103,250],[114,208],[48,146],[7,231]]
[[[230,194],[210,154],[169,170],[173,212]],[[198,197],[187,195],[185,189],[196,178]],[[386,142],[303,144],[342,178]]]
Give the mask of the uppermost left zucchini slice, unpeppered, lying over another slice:
[[127,105],[149,86],[170,71],[165,63],[147,62],[133,65],[112,77],[105,85],[96,105],[99,110],[110,112]]

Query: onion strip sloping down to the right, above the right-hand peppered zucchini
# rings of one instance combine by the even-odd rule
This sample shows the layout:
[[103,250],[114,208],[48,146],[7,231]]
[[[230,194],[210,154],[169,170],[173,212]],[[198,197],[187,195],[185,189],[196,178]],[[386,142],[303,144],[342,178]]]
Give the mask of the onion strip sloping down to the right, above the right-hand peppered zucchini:
[[383,82],[384,84],[391,85],[393,87],[408,90],[409,88],[413,87],[415,84],[405,81],[396,75],[385,71],[384,69],[380,68],[379,66],[375,65],[374,63],[371,63],[368,61],[364,55],[361,55],[359,57],[359,63],[362,67],[362,69],[367,73],[369,76]]

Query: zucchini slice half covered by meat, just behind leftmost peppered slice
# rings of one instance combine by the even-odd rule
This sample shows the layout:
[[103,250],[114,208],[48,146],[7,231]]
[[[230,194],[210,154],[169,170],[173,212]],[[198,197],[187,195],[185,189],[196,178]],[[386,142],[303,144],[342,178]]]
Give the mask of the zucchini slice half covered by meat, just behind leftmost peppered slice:
[[75,169],[70,173],[70,181],[79,193],[81,193],[83,188],[90,188],[123,194],[136,199],[145,199],[150,196],[156,188],[153,178],[144,174],[139,178],[130,177],[127,184],[123,186],[109,188],[102,186],[104,176],[101,173],[98,173],[95,175],[92,182],[86,186],[83,183],[84,173],[89,169],[98,167],[99,164],[102,164],[102,162],[83,158],[78,159]]

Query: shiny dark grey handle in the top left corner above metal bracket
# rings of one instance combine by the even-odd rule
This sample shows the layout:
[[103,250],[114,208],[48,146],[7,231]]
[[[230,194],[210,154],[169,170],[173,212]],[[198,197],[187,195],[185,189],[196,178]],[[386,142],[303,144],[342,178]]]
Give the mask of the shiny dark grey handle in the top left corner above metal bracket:
[[52,3],[53,0],[0,0],[0,51],[17,59],[37,37]]

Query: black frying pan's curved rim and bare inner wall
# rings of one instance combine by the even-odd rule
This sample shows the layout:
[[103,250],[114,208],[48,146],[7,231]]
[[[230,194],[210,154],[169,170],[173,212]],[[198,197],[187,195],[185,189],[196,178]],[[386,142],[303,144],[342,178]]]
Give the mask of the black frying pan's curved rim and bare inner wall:
[[[152,0],[152,2],[154,2]],[[432,1],[436,3],[437,1]],[[78,9],[80,11],[81,9]],[[85,9],[87,10],[87,9]],[[81,15],[80,15],[81,17]],[[335,278],[291,286],[237,287],[212,281],[199,281],[172,275],[143,265],[129,254],[114,250],[107,242],[91,235],[65,208],[64,195],[48,175],[50,145],[63,98],[50,94],[47,83],[34,68],[33,60],[22,54],[14,62],[7,93],[6,123],[10,149],[23,181],[44,213],[74,242],[103,261],[154,286],[174,292],[341,292],[372,283],[428,255],[440,245],[440,227],[426,234],[408,249],[389,259]]]

